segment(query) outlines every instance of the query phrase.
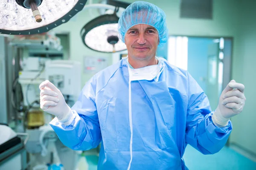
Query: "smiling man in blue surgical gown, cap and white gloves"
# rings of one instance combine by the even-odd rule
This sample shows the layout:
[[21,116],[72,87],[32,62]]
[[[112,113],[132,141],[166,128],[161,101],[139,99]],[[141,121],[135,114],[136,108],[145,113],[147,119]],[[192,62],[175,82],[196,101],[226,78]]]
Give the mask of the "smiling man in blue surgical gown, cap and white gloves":
[[119,19],[128,59],[100,71],[70,108],[61,92],[42,82],[41,108],[50,125],[74,150],[102,142],[99,170],[187,169],[190,144],[203,154],[221,150],[232,130],[230,117],[244,107],[244,85],[232,80],[211,112],[209,100],[191,75],[155,57],[167,41],[165,13],[137,1]]

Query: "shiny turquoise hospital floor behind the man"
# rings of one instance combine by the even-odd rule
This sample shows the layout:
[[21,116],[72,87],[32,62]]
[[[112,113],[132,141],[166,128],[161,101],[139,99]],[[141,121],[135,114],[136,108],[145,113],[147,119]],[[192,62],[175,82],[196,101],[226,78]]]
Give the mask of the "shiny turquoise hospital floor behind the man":
[[[224,147],[213,155],[203,155],[188,145],[183,156],[189,170],[256,170],[256,162]],[[97,170],[98,156],[86,156],[88,170]]]

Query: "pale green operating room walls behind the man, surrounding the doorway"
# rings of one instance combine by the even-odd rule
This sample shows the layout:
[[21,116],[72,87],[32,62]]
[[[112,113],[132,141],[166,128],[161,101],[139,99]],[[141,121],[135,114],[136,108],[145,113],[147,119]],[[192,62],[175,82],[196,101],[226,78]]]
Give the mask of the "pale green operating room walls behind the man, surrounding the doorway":
[[[125,0],[134,2],[134,0]],[[98,1],[95,1],[95,3]],[[166,22],[170,35],[204,36],[204,37],[233,37],[232,79],[243,83],[246,87],[247,98],[243,113],[232,118],[233,132],[230,142],[236,142],[242,147],[256,153],[256,119],[253,99],[256,90],[256,3],[253,0],[213,0],[212,20],[181,19],[179,17],[180,0],[148,0],[166,12]],[[93,9],[93,14],[98,15]],[[96,17],[96,16],[95,16]],[[86,48],[79,35],[92,17],[88,10],[79,12],[72,20],[57,28],[55,31],[70,33],[70,59],[83,62],[83,56],[106,57],[111,65],[111,54],[104,54]],[[253,62],[254,61],[254,62]],[[93,75],[83,74],[82,86]]]

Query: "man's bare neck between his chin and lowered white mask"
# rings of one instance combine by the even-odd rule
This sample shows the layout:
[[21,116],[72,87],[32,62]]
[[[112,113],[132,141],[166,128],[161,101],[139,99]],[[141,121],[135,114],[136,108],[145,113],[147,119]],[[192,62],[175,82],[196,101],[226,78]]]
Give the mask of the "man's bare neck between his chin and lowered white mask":
[[132,57],[129,57],[128,55],[128,62],[133,68],[143,68],[148,65],[156,65],[158,63],[158,60],[156,59],[156,57],[152,57],[149,60],[148,59],[140,60],[140,59],[134,59]]

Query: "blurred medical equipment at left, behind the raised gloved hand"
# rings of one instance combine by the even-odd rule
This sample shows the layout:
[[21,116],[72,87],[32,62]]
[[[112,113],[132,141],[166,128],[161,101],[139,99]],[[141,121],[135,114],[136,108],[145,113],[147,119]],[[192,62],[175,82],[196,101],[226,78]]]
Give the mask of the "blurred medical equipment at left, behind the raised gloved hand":
[[[4,139],[0,142],[0,150],[7,150],[6,142],[13,143],[12,138],[19,139],[16,137],[18,134],[30,136],[26,142],[19,139],[15,145],[8,144],[10,158],[17,152],[13,148],[18,144],[18,153],[21,155],[17,157],[20,160],[17,162],[17,165],[20,162],[19,167],[14,167],[12,159],[3,152],[0,153],[0,169],[6,167],[6,162],[10,162],[11,166],[7,169],[13,170],[42,167],[63,169],[64,166],[66,169],[74,169],[79,153],[65,147],[49,126],[53,117],[41,110],[38,87],[44,80],[51,80],[63,91],[67,104],[72,107],[81,89],[80,62],[63,59],[64,50],[60,38],[53,32],[0,38],[5,42],[3,57],[7,64],[6,77],[3,79],[6,82],[5,88],[11,89],[10,93],[5,91],[7,103],[3,107],[4,112],[0,114],[4,118],[1,122],[9,124],[8,130],[6,127],[3,129],[3,126],[0,128],[1,139]],[[8,105],[9,101],[11,105]],[[28,153],[28,156],[24,157],[21,151],[24,151],[25,156]]]

